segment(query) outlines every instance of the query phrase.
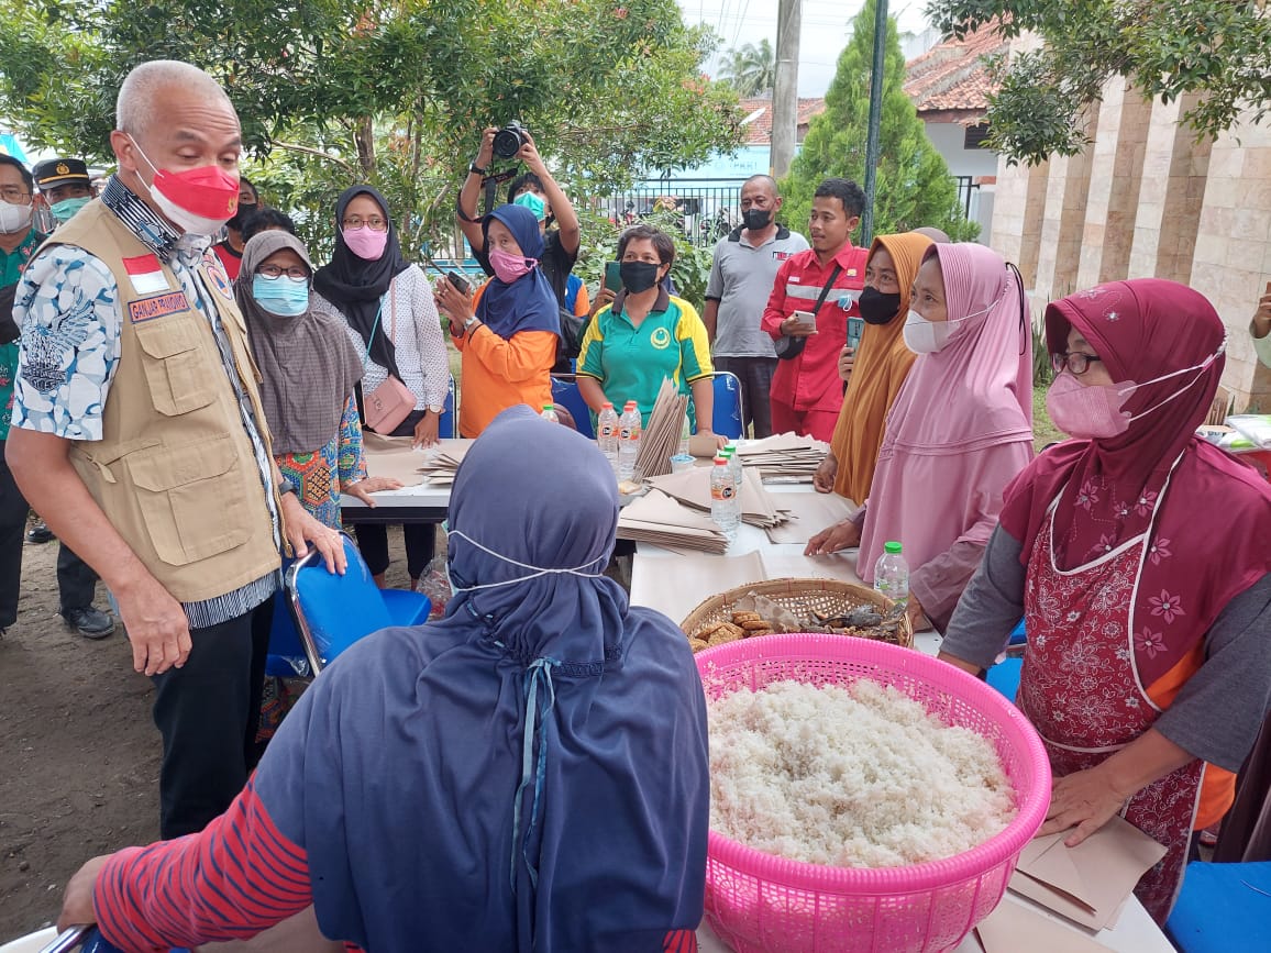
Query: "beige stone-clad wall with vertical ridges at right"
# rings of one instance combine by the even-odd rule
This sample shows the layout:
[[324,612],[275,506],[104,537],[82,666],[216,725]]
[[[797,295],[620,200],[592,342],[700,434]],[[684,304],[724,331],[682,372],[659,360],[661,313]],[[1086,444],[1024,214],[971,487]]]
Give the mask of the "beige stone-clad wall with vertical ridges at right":
[[1240,122],[1214,141],[1178,123],[1192,100],[1145,100],[1125,80],[1084,117],[1078,156],[998,165],[993,247],[1017,262],[1035,314],[1104,281],[1191,285],[1230,333],[1223,382],[1237,408],[1271,412],[1271,368],[1249,318],[1271,282],[1271,125]]

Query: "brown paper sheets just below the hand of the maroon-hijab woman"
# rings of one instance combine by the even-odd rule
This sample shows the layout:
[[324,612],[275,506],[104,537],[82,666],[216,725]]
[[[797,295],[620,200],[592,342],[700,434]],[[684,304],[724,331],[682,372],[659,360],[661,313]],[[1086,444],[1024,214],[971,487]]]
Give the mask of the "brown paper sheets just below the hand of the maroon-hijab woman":
[[1112,926],[1134,884],[1166,849],[1120,817],[1075,848],[1064,846],[1069,834],[1028,841],[1010,889],[1091,930]]

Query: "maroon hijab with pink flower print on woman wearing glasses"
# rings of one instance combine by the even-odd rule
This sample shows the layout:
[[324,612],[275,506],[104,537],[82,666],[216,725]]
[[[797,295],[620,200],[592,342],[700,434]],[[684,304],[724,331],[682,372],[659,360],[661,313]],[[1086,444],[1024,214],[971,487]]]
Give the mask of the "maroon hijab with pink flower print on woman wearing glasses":
[[[1068,349],[1073,327],[1113,381],[1144,385],[1124,410],[1155,409],[1118,437],[1070,440],[1037,457],[1008,488],[1002,526],[1023,543],[1027,565],[1059,497],[1061,569],[1152,534],[1131,616],[1146,686],[1196,647],[1233,596],[1271,571],[1271,488],[1196,436],[1225,363],[1223,320],[1204,295],[1159,278],[1099,285],[1046,309],[1051,353]],[[1148,382],[1188,367],[1197,370]]]

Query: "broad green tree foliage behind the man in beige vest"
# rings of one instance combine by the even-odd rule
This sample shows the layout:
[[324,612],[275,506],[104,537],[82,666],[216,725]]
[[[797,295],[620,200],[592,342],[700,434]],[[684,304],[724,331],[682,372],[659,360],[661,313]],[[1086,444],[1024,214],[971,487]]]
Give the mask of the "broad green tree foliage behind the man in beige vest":
[[449,231],[487,125],[526,123],[580,196],[735,147],[736,95],[700,72],[713,43],[674,0],[0,0],[0,114],[109,163],[123,76],[186,60],[224,84],[263,163],[248,174],[308,236],[371,182],[413,250]]

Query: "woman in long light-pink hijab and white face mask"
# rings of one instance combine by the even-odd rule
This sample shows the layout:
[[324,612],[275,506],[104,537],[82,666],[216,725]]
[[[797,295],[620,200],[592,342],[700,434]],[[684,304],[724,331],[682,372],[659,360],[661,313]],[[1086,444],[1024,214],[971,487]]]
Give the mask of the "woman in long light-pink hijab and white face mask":
[[883,544],[910,567],[909,611],[943,632],[980,564],[1002,492],[1032,459],[1032,333],[1005,260],[984,245],[932,245],[905,343],[918,353],[887,414],[869,499],[813,536],[807,555],[859,544],[873,585]]

